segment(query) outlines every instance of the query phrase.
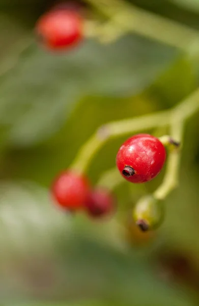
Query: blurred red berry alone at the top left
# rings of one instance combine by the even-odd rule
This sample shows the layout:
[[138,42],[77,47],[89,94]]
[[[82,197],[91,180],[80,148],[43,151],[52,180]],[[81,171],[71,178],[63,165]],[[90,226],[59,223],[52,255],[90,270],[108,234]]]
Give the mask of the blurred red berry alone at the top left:
[[54,10],[39,18],[36,33],[49,49],[64,49],[82,39],[82,19],[72,10]]

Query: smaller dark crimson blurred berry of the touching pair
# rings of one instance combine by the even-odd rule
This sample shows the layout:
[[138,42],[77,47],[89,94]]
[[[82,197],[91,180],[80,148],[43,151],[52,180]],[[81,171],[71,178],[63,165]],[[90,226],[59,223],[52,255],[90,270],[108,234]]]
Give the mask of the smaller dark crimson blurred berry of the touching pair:
[[91,191],[85,207],[92,217],[102,217],[110,214],[115,208],[115,198],[112,194],[102,188]]

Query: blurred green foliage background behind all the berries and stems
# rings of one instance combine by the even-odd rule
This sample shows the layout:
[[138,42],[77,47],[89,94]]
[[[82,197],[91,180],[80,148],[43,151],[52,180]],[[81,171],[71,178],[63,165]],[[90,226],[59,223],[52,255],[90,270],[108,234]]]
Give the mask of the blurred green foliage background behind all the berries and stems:
[[[198,0],[132,3],[199,30]],[[102,123],[167,109],[190,94],[199,63],[133,34],[109,44],[86,39],[51,54],[34,37],[51,4],[0,1],[0,303],[198,305],[198,113],[186,124],[180,187],[166,199],[157,233],[140,235],[129,214],[163,173],[146,186],[118,187],[118,214],[107,221],[63,214],[49,186]],[[115,166],[125,138],[97,154],[88,173],[93,184]]]

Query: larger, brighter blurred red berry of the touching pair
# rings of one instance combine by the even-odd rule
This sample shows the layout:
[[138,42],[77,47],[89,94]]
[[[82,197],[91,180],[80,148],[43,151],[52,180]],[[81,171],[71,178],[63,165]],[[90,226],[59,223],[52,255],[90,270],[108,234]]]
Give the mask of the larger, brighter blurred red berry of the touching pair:
[[76,210],[83,207],[88,198],[90,186],[86,177],[72,171],[61,173],[52,186],[52,195],[60,206]]

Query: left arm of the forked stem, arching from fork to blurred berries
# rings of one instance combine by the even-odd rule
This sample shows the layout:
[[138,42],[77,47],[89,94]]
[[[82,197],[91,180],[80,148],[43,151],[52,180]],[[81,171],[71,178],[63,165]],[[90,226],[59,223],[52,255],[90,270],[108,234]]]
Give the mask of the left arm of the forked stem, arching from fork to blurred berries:
[[131,134],[140,130],[150,130],[156,126],[166,125],[170,112],[163,111],[132,119],[112,121],[101,126],[98,131],[81,147],[71,168],[76,172],[87,171],[92,158],[104,143],[113,137]]

